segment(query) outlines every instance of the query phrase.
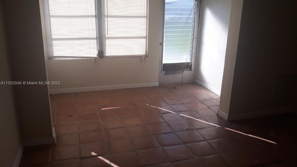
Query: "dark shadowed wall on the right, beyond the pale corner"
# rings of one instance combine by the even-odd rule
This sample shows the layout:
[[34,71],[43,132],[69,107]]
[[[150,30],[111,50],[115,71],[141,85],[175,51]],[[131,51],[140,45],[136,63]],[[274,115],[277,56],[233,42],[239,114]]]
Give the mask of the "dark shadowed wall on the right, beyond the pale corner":
[[224,108],[222,96],[219,107],[228,120],[296,111],[297,34],[291,19],[295,7],[294,0],[243,1],[238,45],[232,45],[236,62],[229,108]]

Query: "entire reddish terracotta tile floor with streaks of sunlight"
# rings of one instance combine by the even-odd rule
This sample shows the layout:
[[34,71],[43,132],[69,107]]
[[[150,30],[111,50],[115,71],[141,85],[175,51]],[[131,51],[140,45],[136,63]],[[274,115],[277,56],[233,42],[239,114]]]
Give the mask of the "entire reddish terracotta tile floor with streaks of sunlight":
[[219,98],[196,83],[51,95],[56,146],[20,166],[297,166],[295,115],[226,122]]

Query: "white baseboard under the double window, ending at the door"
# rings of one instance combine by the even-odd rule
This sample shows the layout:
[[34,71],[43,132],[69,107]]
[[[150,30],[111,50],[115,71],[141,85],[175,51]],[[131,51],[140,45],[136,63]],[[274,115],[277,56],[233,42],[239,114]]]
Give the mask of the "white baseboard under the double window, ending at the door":
[[87,92],[87,91],[98,91],[98,90],[113,90],[113,89],[127,89],[127,88],[140,88],[140,87],[149,87],[149,86],[159,86],[159,82],[130,83],[130,84],[106,85],[106,86],[90,86],[90,87],[67,88],[67,89],[51,89],[50,94]]

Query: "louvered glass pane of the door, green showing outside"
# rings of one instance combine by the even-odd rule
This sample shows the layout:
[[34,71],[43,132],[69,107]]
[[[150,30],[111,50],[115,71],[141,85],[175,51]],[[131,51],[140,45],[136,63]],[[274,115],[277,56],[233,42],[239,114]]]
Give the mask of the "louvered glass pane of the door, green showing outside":
[[191,68],[196,0],[165,0],[162,71]]

